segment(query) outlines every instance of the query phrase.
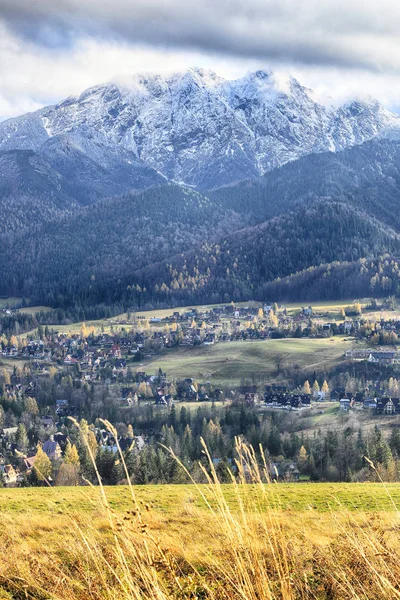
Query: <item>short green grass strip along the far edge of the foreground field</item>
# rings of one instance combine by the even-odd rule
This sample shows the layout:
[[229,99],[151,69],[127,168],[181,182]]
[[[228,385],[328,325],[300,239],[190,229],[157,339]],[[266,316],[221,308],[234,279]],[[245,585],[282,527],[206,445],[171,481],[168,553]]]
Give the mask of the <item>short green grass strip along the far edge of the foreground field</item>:
[[[261,505],[290,511],[395,511],[400,510],[400,483],[290,483],[270,484]],[[261,494],[257,486],[246,486],[246,495],[260,506]],[[212,503],[208,486],[200,489]],[[132,504],[127,486],[105,488],[108,500],[116,511],[125,512]],[[139,503],[151,503],[152,509],[164,515],[176,515],[182,506],[193,503],[200,510],[207,510],[193,485],[135,486]],[[236,494],[232,485],[223,486],[224,495],[233,510]],[[0,490],[0,514],[48,513],[96,513],[100,503],[100,488],[56,487],[17,488]]]

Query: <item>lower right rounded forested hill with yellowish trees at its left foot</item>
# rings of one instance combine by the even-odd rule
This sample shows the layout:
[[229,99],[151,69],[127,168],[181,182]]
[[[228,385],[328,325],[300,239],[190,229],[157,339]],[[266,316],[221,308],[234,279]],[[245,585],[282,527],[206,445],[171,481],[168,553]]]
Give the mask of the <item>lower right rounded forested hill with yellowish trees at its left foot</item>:
[[[158,297],[169,296],[172,303],[183,297],[191,302],[262,300],[273,297],[267,282],[305,267],[399,251],[400,236],[394,230],[351,205],[319,200],[204,245],[201,252],[188,252],[172,262],[166,276],[156,265],[142,272],[142,285]],[[304,285],[303,298],[308,293]],[[330,289],[330,294],[337,292]]]

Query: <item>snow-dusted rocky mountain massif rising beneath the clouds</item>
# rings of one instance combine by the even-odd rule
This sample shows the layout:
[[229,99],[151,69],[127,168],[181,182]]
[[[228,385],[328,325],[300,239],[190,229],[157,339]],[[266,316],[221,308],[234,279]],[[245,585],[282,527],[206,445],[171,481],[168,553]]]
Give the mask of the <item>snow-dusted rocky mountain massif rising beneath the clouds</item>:
[[204,189],[262,175],[313,152],[339,151],[399,126],[400,118],[373,100],[339,109],[318,104],[293,78],[282,85],[273,73],[257,71],[226,81],[190,69],[99,85],[0,123],[0,150],[45,153],[53,168],[61,155],[64,165],[69,157],[69,172],[83,154],[109,172],[134,172],[136,187],[166,178]]

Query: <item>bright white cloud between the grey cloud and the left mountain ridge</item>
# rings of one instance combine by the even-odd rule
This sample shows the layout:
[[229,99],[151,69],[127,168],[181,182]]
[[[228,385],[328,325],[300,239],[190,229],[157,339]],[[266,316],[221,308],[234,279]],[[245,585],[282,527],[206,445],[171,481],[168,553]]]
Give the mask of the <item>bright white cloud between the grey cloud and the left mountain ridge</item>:
[[50,50],[12,34],[0,23],[0,121],[99,83],[126,81],[136,72],[177,72],[196,65],[227,77],[253,68],[253,63],[232,63],[213,55],[88,37],[77,40],[69,50]]

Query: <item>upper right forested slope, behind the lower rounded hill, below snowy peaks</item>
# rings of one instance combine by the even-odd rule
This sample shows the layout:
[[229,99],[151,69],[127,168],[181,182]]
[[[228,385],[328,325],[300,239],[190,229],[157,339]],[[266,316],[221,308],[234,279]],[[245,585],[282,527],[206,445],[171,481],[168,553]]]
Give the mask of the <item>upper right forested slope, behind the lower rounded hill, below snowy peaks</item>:
[[340,199],[399,228],[400,141],[375,139],[338,153],[310,154],[210,196],[257,222],[313,198]]

